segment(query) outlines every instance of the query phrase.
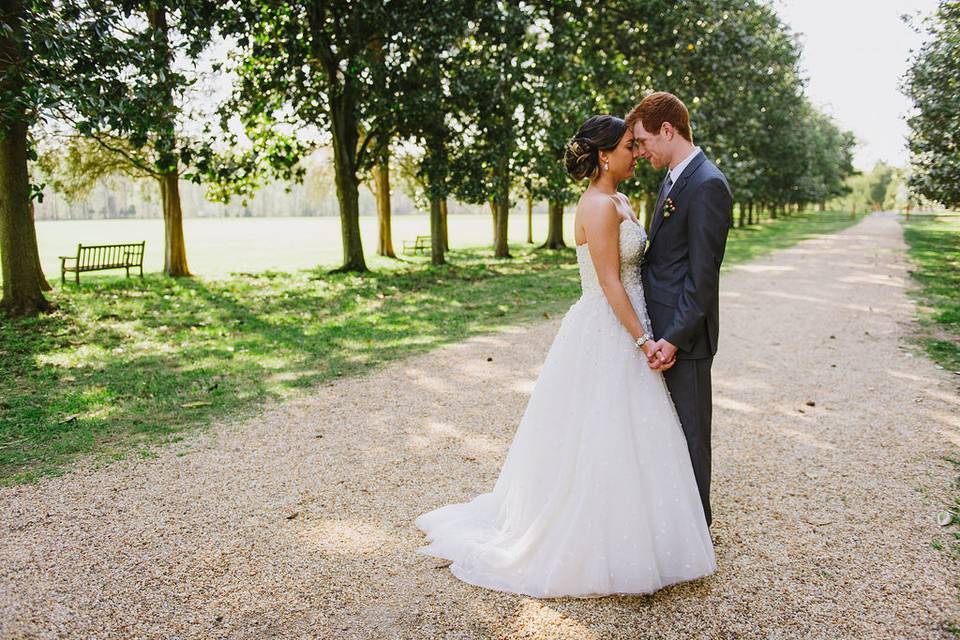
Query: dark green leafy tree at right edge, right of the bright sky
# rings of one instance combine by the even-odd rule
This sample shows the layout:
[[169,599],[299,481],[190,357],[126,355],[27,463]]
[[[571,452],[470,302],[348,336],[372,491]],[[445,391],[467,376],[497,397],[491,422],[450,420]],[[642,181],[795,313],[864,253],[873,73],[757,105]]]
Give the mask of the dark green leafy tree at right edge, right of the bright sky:
[[953,208],[960,206],[960,1],[940,0],[927,33],[903,85],[915,109],[907,120],[910,187]]

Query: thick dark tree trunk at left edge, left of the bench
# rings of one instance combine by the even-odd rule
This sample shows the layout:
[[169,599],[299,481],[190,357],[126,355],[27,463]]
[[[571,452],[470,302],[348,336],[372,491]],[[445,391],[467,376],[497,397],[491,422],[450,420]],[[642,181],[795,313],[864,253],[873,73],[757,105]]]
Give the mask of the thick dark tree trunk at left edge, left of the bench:
[[[6,51],[10,48],[0,45],[0,53]],[[0,71],[5,70],[0,67]],[[27,125],[23,122],[13,124],[0,142],[0,269],[0,309],[11,316],[27,316],[56,308],[42,292],[46,279],[40,269],[37,230],[30,206]]]

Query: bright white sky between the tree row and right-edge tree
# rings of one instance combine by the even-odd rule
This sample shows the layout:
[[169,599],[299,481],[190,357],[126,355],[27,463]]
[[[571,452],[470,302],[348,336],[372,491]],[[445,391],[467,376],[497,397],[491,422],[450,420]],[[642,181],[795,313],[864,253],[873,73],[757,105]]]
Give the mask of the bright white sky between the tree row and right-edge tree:
[[774,0],[773,6],[802,34],[807,95],[860,141],[857,168],[877,160],[905,166],[910,102],[899,84],[924,36],[900,16],[931,15],[937,0]]

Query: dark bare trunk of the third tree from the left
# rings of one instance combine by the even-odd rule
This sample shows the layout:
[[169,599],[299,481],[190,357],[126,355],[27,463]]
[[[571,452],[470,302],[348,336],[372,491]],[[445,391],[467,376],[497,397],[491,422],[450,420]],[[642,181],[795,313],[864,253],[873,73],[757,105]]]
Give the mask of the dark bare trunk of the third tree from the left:
[[360,239],[360,189],[357,180],[357,130],[351,96],[340,94],[330,100],[330,129],[333,134],[333,168],[337,201],[340,203],[340,239],[343,264],[335,272],[366,271]]

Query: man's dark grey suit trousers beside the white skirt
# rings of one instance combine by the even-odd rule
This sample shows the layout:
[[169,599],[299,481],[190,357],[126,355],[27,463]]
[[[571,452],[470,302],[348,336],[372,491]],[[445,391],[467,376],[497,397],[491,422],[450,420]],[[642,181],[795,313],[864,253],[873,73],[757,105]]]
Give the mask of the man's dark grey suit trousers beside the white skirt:
[[713,520],[710,512],[710,426],[713,418],[713,399],[710,385],[710,368],[713,358],[677,360],[664,374],[667,389],[677,408],[680,426],[687,439],[687,450],[697,479],[700,500],[707,526]]

